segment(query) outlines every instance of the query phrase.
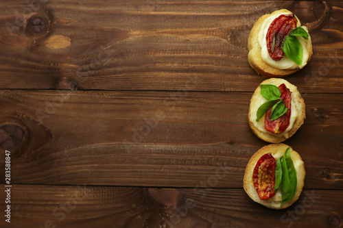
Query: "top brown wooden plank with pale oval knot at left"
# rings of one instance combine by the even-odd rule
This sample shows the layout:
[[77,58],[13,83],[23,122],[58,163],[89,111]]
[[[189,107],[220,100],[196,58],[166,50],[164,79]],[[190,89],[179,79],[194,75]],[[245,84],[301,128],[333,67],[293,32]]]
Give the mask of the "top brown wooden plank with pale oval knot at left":
[[0,3],[0,88],[179,90],[198,77],[191,90],[252,92],[262,78],[247,61],[250,29],[287,8],[314,45],[289,81],[302,92],[342,92],[341,1],[35,2]]

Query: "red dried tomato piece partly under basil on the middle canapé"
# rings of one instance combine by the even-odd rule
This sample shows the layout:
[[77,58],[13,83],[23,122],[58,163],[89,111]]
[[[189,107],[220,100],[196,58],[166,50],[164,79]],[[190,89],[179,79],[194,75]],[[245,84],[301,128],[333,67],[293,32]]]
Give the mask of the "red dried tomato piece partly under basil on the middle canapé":
[[273,134],[280,134],[287,129],[289,126],[289,119],[291,118],[291,102],[292,102],[292,92],[285,86],[285,84],[281,84],[279,86],[281,90],[281,99],[285,103],[285,107],[288,110],[280,116],[276,118],[274,121],[270,121],[270,114],[272,114],[272,107],[265,113],[264,118],[264,127],[267,131],[272,132]]

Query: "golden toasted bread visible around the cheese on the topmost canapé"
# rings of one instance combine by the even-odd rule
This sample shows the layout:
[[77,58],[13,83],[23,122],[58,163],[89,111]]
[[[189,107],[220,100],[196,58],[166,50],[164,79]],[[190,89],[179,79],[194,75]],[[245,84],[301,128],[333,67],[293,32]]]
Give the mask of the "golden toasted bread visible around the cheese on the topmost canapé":
[[[300,68],[297,69],[278,69],[274,68],[273,66],[270,66],[266,62],[263,61],[261,57],[261,46],[259,45],[259,31],[261,30],[261,27],[263,25],[263,22],[271,15],[273,14],[279,14],[279,13],[285,13],[290,14],[289,10],[276,10],[272,14],[265,14],[257,20],[254,27],[252,27],[250,31],[250,35],[248,38],[248,61],[252,68],[255,69],[255,71],[262,75],[263,77],[287,77],[289,75],[292,75],[300,70]],[[311,60],[311,56],[313,54],[312,51],[312,44],[311,44],[311,37],[309,38],[309,41],[307,42],[307,50],[309,51],[309,60]],[[309,62],[309,60],[307,62]]]

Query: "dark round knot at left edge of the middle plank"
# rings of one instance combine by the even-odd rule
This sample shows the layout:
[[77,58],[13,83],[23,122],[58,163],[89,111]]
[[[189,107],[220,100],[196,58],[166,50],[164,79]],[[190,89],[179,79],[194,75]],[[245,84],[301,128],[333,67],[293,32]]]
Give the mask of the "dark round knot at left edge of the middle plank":
[[19,146],[24,139],[25,131],[14,124],[5,124],[0,127],[0,148],[13,149]]

